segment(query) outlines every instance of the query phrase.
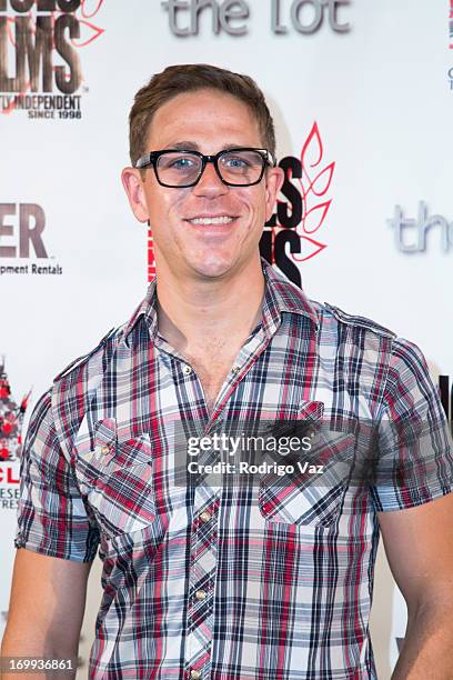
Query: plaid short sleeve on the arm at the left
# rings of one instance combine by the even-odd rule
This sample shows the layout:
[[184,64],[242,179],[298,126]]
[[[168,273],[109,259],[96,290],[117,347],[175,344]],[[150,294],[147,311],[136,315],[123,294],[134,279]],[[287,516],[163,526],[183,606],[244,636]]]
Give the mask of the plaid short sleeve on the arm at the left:
[[23,446],[14,544],[66,560],[92,561],[100,539],[88,512],[58,442],[49,390],[33,410]]

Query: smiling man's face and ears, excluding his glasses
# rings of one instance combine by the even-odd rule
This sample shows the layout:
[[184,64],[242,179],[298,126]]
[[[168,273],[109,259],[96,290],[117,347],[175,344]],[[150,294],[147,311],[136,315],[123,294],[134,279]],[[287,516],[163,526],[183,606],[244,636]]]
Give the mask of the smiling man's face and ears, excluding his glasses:
[[[145,151],[185,148],[214,154],[230,147],[264,146],[258,122],[242,101],[199,90],[158,109]],[[256,258],[282,180],[280,168],[269,168],[259,184],[228,187],[208,163],[195,187],[170,189],[158,183],[151,167],[144,181],[138,170],[123,171],[135,217],[151,222],[158,271],[164,261],[174,274],[197,278],[224,277]],[[211,218],[226,219],[207,223]]]

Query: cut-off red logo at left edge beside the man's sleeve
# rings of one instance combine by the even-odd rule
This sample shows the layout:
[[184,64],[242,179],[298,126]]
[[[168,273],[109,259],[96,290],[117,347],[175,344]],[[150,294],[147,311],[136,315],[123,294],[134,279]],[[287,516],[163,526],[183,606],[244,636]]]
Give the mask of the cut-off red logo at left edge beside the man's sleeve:
[[[0,357],[0,508],[14,509],[19,493],[17,463],[22,451],[22,422],[31,390],[17,403]],[[3,486],[6,484],[6,486]]]

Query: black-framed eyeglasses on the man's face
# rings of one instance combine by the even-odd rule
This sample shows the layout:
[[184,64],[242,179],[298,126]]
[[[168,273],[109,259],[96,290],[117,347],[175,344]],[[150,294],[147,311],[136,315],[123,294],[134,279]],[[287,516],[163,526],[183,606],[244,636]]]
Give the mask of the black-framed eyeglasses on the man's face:
[[214,164],[224,184],[252,187],[261,182],[266,166],[275,166],[275,159],[268,149],[249,147],[225,149],[214,156],[185,149],[165,149],[147,153],[137,161],[135,168],[152,166],[155,179],[162,187],[182,189],[194,187],[208,163]]

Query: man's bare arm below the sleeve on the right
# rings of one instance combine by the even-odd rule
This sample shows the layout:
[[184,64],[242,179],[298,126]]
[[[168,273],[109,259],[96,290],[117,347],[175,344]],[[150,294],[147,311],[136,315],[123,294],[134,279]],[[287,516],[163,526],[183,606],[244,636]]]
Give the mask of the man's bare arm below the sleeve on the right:
[[451,680],[453,673],[453,493],[379,512],[385,552],[407,604],[393,680]]

